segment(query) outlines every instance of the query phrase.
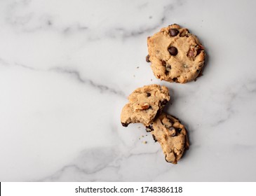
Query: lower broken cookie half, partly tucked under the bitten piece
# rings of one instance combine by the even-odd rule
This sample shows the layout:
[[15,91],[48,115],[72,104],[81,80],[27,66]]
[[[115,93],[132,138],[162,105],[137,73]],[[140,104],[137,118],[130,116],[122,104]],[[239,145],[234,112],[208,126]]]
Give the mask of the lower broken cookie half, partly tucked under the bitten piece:
[[186,149],[189,148],[189,140],[185,127],[180,121],[166,113],[147,126],[147,132],[151,132],[154,141],[161,144],[166,161],[177,164]]

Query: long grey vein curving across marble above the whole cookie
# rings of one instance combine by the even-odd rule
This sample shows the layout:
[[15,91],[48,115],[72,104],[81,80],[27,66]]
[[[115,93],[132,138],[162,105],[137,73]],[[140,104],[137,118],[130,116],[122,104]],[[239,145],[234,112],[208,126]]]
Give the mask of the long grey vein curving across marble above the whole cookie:
[[[140,25],[140,27],[137,27],[134,29],[133,27],[115,27],[114,29],[105,29],[102,31],[102,33],[96,35],[93,35],[97,32],[97,29],[95,27],[90,27],[90,25],[86,25],[86,22],[83,24],[81,22],[74,22],[69,25],[65,24],[58,24],[60,21],[55,21],[53,15],[47,14],[47,13],[33,13],[33,12],[27,12],[24,13],[22,16],[15,16],[15,9],[19,7],[25,7],[27,8],[29,4],[31,4],[32,1],[20,1],[19,3],[13,3],[10,6],[10,11],[8,11],[8,18],[6,18],[6,22],[13,26],[18,27],[21,31],[24,31],[26,33],[36,33],[38,31],[46,31],[46,29],[51,31],[56,31],[63,34],[69,34],[69,35],[76,35],[76,34],[85,34],[87,36],[88,41],[96,41],[100,39],[106,39],[106,38],[135,38],[136,36],[140,36],[142,34],[151,33],[153,31],[159,30],[160,27],[165,24],[168,18],[171,17],[172,13],[171,11],[174,10],[177,7],[182,6],[182,1],[173,1],[172,3],[168,3],[165,6],[163,6],[163,11],[161,12],[161,18],[159,18],[159,21],[154,22],[154,25],[144,25],[143,23]],[[138,10],[141,10],[142,8],[147,8],[148,2],[143,3],[142,5],[139,5],[137,8]],[[39,16],[38,16],[39,15]],[[149,18],[152,18],[152,16],[149,16]],[[40,20],[39,20],[40,19]],[[37,21],[37,22],[36,22]],[[170,24],[169,24],[170,25]],[[86,30],[89,30],[86,32]]]

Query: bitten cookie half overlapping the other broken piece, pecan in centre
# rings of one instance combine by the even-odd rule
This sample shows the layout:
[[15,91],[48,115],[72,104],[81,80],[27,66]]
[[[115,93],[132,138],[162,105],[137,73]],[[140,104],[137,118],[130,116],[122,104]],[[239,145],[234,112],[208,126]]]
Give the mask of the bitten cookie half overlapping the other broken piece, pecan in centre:
[[128,99],[129,103],[121,111],[121,124],[124,127],[130,123],[147,126],[161,113],[163,106],[170,100],[170,95],[165,86],[146,85],[137,88]]

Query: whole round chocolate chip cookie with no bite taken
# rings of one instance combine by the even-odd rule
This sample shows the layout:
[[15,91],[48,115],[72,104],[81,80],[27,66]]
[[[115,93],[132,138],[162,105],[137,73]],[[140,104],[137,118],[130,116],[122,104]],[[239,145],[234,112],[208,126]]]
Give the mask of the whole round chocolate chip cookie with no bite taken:
[[169,25],[147,38],[151,69],[156,78],[187,83],[198,77],[203,68],[205,51],[196,36],[180,25]]

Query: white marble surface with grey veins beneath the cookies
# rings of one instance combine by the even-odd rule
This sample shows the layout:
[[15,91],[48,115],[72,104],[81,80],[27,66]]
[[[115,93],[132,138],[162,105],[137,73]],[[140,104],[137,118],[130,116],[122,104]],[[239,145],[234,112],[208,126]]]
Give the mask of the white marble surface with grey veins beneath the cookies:
[[[256,181],[255,6],[1,0],[0,181]],[[196,82],[160,81],[144,60],[147,36],[173,23],[206,47]],[[189,130],[177,165],[120,124],[128,94],[152,83]]]

